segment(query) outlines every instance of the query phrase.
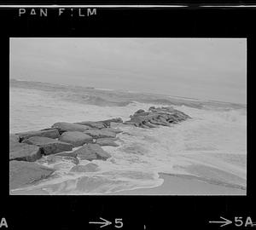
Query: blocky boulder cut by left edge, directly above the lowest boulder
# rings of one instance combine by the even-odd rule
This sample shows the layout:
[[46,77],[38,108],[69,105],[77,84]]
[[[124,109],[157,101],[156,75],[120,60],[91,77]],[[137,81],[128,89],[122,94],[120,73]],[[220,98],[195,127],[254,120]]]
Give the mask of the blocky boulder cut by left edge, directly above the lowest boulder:
[[9,160],[36,161],[42,157],[40,147],[25,143],[9,143]]

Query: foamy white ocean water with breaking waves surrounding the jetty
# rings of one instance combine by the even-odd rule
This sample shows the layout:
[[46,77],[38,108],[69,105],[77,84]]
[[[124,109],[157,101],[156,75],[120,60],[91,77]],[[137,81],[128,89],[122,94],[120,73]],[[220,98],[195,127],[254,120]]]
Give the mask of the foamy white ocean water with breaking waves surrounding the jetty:
[[[170,102],[169,102],[170,101]],[[41,189],[49,194],[108,194],[140,187],[158,187],[160,173],[193,175],[227,187],[247,187],[247,108],[231,103],[157,99],[105,89],[74,89],[49,84],[18,83],[9,89],[10,133],[49,128],[56,122],[122,118],[138,109],[170,106],[192,119],[172,127],[141,129],[119,125],[119,147],[103,147],[107,161],[96,170],[73,172],[69,160],[44,164],[56,171],[49,179],[23,191]],[[191,106],[190,106],[191,105]]]

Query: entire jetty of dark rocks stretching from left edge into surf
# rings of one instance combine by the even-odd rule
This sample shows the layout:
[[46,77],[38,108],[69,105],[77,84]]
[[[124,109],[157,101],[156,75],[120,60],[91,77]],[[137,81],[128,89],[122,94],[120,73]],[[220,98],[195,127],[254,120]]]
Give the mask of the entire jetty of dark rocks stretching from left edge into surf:
[[[69,159],[74,167],[71,172],[97,170],[96,165],[80,166],[79,160],[107,160],[111,155],[103,146],[119,147],[115,141],[123,131],[122,125],[151,129],[159,126],[171,126],[188,118],[172,106],[150,107],[130,116],[129,121],[111,118],[102,121],[81,121],[77,123],[59,122],[41,130],[32,130],[9,135],[9,188],[30,186],[47,179],[55,172],[54,168],[45,167]],[[119,126],[119,124],[122,124]],[[114,128],[113,128],[114,127]],[[73,151],[73,147],[79,147]],[[47,156],[47,158],[44,158]]]

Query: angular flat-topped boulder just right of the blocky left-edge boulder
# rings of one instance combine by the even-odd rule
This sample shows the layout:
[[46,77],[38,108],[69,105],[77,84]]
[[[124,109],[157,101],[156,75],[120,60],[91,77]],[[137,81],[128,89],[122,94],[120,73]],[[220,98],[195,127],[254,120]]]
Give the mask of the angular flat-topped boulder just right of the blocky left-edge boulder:
[[22,141],[22,143],[41,147],[42,152],[45,155],[63,151],[71,151],[73,149],[72,144],[42,136],[32,136],[31,138]]

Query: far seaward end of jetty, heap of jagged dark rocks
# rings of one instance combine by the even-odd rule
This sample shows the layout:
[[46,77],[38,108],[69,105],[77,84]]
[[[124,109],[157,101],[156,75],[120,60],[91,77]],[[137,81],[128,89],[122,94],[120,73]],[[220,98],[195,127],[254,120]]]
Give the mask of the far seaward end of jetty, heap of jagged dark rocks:
[[174,109],[172,106],[167,107],[150,107],[148,112],[138,110],[132,116],[130,121],[125,124],[133,124],[141,128],[155,128],[159,125],[171,126],[188,118],[187,114]]

